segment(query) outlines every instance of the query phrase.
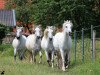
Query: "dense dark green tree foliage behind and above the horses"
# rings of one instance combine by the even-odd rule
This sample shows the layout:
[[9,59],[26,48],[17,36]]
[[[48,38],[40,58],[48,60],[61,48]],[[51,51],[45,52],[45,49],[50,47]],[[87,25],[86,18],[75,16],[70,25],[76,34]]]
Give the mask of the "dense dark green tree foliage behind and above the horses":
[[[72,20],[74,29],[100,24],[99,0],[8,0],[15,8],[17,20],[23,23],[55,25]],[[15,5],[15,7],[14,7]]]

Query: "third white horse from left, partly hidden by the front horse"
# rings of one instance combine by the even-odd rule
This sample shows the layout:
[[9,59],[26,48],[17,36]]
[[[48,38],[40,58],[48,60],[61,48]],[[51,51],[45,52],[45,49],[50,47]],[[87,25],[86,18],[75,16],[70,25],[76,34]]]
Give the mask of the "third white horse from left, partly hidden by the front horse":
[[44,31],[44,36],[41,41],[41,47],[45,51],[47,62],[49,66],[51,65],[51,62],[52,62],[52,68],[54,65],[53,33],[54,33],[54,27],[47,26],[47,28]]

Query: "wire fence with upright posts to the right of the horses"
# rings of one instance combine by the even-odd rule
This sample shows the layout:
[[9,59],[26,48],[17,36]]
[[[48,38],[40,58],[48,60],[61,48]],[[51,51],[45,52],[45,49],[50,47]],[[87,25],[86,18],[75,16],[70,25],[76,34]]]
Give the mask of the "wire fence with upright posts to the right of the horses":
[[[100,28],[100,25],[94,26],[91,25],[91,28],[84,29],[81,31],[74,30],[74,61],[76,62],[77,57],[81,59],[82,63],[85,60],[92,60],[92,62],[96,59],[96,49],[100,44],[100,39],[96,39],[96,29]],[[95,30],[94,30],[95,29]],[[85,33],[91,33],[91,37],[85,37]],[[81,39],[77,39],[77,35],[81,34]],[[96,41],[98,40],[98,41]],[[98,45],[98,46],[97,46]],[[98,48],[100,49],[100,48]],[[81,55],[81,58],[80,58]],[[86,57],[85,57],[86,56]]]

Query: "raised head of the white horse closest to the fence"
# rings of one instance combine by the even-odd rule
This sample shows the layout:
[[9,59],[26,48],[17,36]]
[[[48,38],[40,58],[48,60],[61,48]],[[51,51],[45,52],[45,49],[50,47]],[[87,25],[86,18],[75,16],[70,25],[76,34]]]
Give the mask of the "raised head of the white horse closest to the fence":
[[63,23],[63,32],[66,32],[69,36],[72,33],[72,22],[70,20],[64,21]]

